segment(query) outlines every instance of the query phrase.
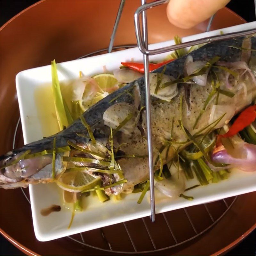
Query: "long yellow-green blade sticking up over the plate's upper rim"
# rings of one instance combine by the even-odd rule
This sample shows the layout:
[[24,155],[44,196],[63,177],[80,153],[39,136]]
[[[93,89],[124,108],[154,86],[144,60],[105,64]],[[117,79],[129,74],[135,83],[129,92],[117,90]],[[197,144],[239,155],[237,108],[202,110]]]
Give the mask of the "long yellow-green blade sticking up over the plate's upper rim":
[[60,82],[57,74],[55,60],[52,61],[52,92],[58,124],[60,130],[62,130],[63,126],[68,126],[68,119],[66,116],[63,98],[60,91]]

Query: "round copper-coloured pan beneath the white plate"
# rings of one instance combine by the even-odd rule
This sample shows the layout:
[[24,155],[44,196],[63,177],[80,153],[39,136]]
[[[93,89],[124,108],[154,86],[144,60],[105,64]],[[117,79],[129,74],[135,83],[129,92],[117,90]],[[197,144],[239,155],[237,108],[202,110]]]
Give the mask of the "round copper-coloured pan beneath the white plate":
[[[105,53],[118,10],[116,0],[40,1],[1,28],[1,154],[23,145],[16,74],[28,68]],[[127,0],[113,51],[136,45],[133,14],[140,1]],[[205,31],[207,21],[192,29],[172,26],[166,5],[148,11],[148,40],[156,43],[175,35]],[[227,8],[217,12],[211,29],[245,21]],[[105,49],[105,50],[104,50]],[[50,242],[36,240],[28,189],[1,189],[1,233],[28,255],[219,255],[255,228],[256,194],[250,193],[204,205],[95,229]]]

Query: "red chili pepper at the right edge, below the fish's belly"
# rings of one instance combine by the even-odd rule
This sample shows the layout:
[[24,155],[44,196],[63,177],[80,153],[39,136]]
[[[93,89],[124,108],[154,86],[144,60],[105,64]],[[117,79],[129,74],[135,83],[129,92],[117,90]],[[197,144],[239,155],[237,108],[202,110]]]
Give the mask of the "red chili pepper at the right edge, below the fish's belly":
[[242,131],[246,126],[252,124],[256,118],[256,105],[244,109],[231,125],[228,132],[220,135],[221,138],[234,136],[237,132]]

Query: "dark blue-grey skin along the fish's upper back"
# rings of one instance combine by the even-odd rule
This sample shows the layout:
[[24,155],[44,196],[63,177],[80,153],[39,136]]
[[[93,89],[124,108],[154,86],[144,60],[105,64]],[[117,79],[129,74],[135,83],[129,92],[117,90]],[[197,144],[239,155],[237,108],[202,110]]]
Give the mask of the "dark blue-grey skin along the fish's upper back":
[[[235,62],[239,60],[241,55],[241,50],[236,49],[230,46],[241,47],[244,37],[237,37],[228,40],[217,41],[213,43],[206,44],[201,48],[189,53],[193,60],[210,60],[212,57],[220,56],[221,61]],[[251,37],[252,40],[252,49],[255,49],[255,37]],[[165,74],[177,78],[178,76],[183,75],[184,62],[187,56],[183,56],[177,60],[174,60],[166,65]],[[154,72],[161,72],[163,67],[158,68]],[[86,110],[83,114],[86,122],[90,125],[91,129],[94,130],[95,138],[100,138],[100,133],[102,133],[104,122],[102,119],[103,113],[105,110],[113,104],[119,102],[134,103],[134,99],[131,94],[126,93],[127,91],[132,93],[132,90],[135,86],[139,86],[140,91],[140,105],[145,106],[145,85],[144,77],[141,77],[130,84],[127,84],[123,88],[111,93],[106,98],[100,100],[91,108]],[[182,86],[182,85],[181,85]],[[117,97],[117,98],[116,98]],[[116,98],[116,99],[115,99]],[[151,97],[151,101],[157,100],[155,97]],[[113,100],[115,99],[115,100]],[[113,100],[113,101],[111,101]],[[111,102],[110,102],[111,101]],[[68,126],[65,130],[52,135],[50,137],[38,140],[32,143],[29,143],[22,148],[14,149],[11,152],[8,152],[5,155],[0,156],[0,160],[10,158],[15,156],[20,152],[25,152],[30,149],[31,153],[36,153],[43,151],[45,149],[53,148],[53,139],[56,137],[56,147],[63,147],[68,145],[68,140],[75,140],[78,143],[86,143],[88,139],[78,136],[76,133],[83,133],[88,136],[87,130],[82,124],[80,119],[77,119]]]

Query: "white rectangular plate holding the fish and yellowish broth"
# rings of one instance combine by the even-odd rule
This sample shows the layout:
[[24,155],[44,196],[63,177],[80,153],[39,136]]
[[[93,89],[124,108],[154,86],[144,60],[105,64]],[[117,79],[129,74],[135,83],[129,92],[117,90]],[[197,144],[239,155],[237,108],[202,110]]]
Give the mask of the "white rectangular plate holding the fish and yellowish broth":
[[[221,29],[224,33],[241,31],[255,28],[256,22],[238,25]],[[183,42],[195,40],[205,36],[219,35],[220,30],[202,33],[194,36],[184,37]],[[155,49],[174,44],[173,41],[153,44],[149,48]],[[162,60],[167,53],[157,56],[150,56],[150,60]],[[53,56],[54,58],[54,56]],[[119,68],[121,61],[142,61],[143,56],[138,48],[132,48],[120,52],[103,54],[81,60],[72,60],[57,64],[60,81],[75,79],[82,71],[85,75],[94,75],[103,72],[103,66],[111,71]],[[57,132],[56,121],[54,123],[53,99],[45,94],[42,88],[51,83],[51,66],[33,68],[20,72],[16,76],[16,86],[20,106],[20,116],[23,129],[24,143],[42,139]],[[38,108],[38,105],[42,105]],[[51,107],[52,106],[52,107]],[[52,125],[56,124],[55,126]],[[50,125],[51,124],[51,125]],[[50,127],[49,127],[50,126]],[[48,129],[45,129],[48,127]],[[187,187],[189,184],[187,184]],[[187,193],[194,196],[193,201],[178,198],[156,204],[156,213],[171,211],[191,205],[203,204],[229,196],[236,196],[256,190],[256,178],[253,172],[234,171],[228,180],[223,180],[217,184],[200,186]],[[84,232],[94,228],[113,225],[119,222],[133,220],[150,215],[150,205],[148,199],[144,199],[141,204],[137,204],[140,196],[130,194],[118,202],[108,201],[98,202],[94,197],[89,199],[88,206],[84,212],[76,213],[71,228],[68,224],[71,218],[70,210],[62,206],[60,191],[55,184],[39,184],[29,186],[31,209],[33,216],[34,230],[39,241],[49,241],[52,239],[69,236],[79,232]],[[90,196],[91,197],[91,196]],[[148,195],[147,195],[148,197]],[[43,217],[40,210],[52,204],[61,205],[60,212],[53,212]]]

